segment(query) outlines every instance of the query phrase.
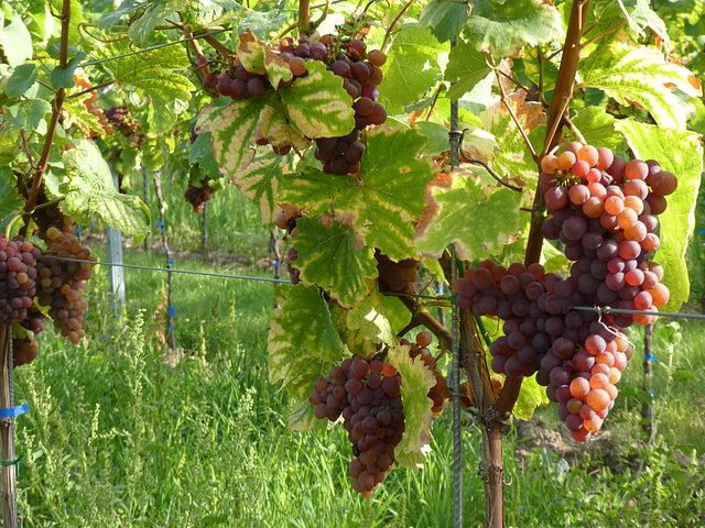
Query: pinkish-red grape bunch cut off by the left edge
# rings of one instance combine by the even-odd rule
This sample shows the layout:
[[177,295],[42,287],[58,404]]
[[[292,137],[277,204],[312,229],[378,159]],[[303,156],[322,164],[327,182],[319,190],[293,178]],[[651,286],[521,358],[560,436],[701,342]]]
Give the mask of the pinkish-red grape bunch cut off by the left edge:
[[22,237],[8,240],[0,234],[0,322],[10,327],[23,321],[36,294],[39,248]]

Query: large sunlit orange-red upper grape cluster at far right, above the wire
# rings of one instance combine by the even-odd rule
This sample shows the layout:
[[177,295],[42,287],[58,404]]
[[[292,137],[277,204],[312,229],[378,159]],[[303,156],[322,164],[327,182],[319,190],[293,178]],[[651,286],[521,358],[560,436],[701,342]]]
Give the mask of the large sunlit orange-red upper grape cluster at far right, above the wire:
[[[663,270],[649,262],[660,246],[658,215],[676,177],[650,160],[625,161],[608,148],[570,143],[560,155],[545,156],[540,184],[553,215],[543,224],[549,240],[565,244],[574,261],[571,277],[585,300],[598,306],[658,312],[669,289],[660,283]],[[628,327],[648,324],[655,316],[615,315]]]

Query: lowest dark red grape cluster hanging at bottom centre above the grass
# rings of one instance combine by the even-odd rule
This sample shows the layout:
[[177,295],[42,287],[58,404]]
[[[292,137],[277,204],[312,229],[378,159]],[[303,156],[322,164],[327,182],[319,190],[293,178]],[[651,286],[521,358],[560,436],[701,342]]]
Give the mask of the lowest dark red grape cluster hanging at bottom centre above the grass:
[[316,418],[344,419],[355,459],[349,471],[352,488],[372,496],[394,466],[394,447],[404,432],[401,375],[375,358],[346,359],[314,384],[308,397]]

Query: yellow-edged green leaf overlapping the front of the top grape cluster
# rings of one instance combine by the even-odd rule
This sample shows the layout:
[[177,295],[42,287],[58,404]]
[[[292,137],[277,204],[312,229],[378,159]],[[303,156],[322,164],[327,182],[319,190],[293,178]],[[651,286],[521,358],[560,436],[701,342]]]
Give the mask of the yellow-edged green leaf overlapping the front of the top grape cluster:
[[355,128],[355,110],[343,78],[318,61],[308,61],[306,68],[306,77],[278,92],[289,120],[311,139],[349,134]]

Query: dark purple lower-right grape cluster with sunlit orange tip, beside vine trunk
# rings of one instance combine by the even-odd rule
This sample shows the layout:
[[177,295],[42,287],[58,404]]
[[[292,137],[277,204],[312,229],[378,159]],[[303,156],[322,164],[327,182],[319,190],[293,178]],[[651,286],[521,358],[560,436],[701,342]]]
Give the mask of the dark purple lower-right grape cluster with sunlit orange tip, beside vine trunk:
[[[489,349],[495,372],[510,377],[536,373],[536,381],[546,386],[550,399],[566,406],[568,400],[579,399],[586,406],[583,415],[589,424],[578,422],[577,418],[571,418],[568,422],[565,408],[558,410],[575,440],[584,441],[599,429],[594,428],[601,426],[595,416],[601,420],[612,407],[617,396],[615,384],[631,358],[631,349],[623,346],[628,342],[620,330],[601,322],[596,312],[573,309],[586,302],[573,277],[562,279],[554,273],[545,273],[540,264],[525,267],[514,263],[505,267],[487,260],[477,268],[467,270],[465,276],[454,283],[453,289],[458,295],[458,307],[470,308],[477,316],[497,316],[505,321],[505,336],[495,340]],[[609,369],[608,384],[603,384],[600,376],[593,381],[593,374],[604,374],[605,367],[597,364]],[[586,377],[594,384],[587,394],[566,393],[577,377]],[[581,384],[576,382],[576,386]],[[609,395],[608,402],[596,399],[604,396],[601,392],[589,396],[593,388],[605,391]],[[570,414],[579,415],[583,407],[573,402],[570,409]]]

